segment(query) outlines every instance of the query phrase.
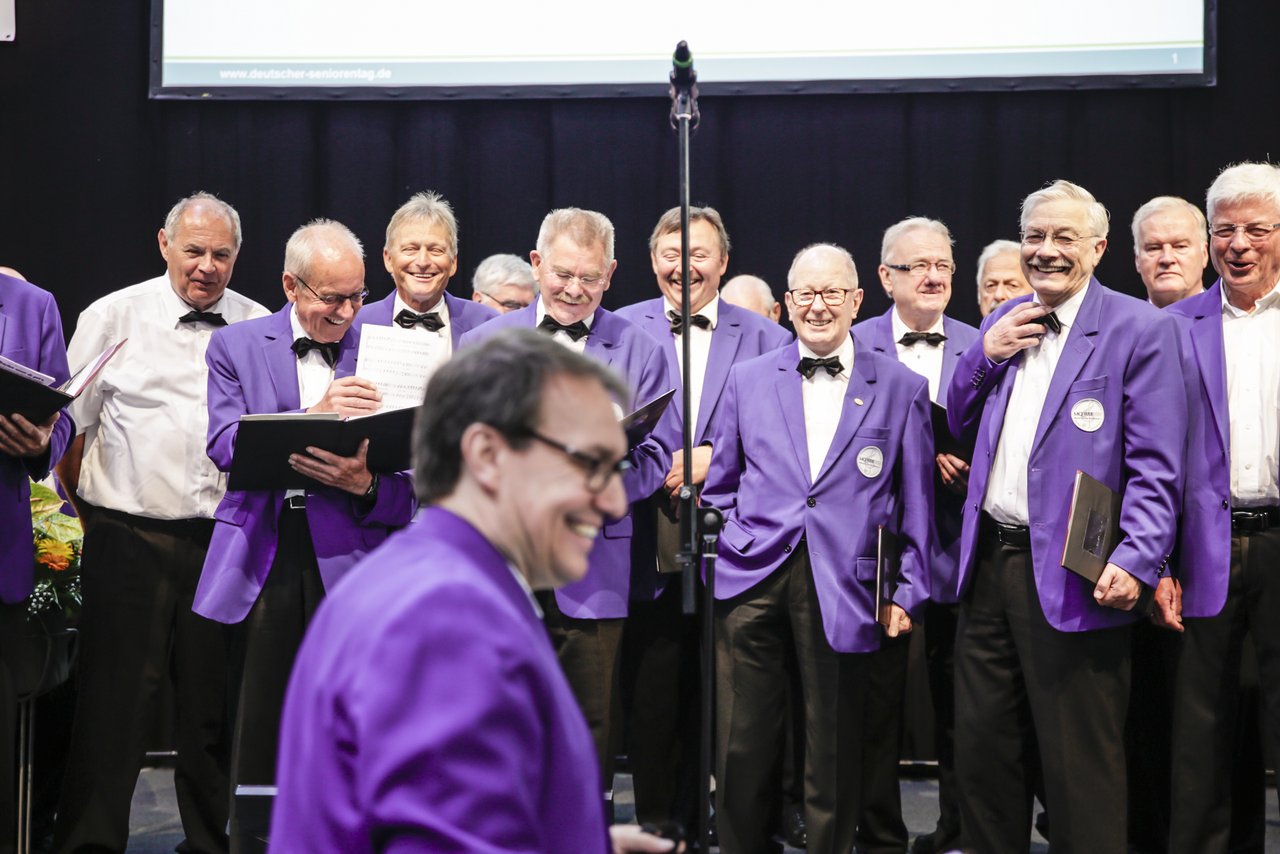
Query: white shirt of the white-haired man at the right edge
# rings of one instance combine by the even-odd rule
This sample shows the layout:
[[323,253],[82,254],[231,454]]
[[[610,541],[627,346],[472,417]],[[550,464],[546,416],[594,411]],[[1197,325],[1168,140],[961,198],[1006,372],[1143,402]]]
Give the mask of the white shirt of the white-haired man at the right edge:
[[1222,291],[1226,411],[1231,433],[1231,503],[1280,503],[1280,286],[1253,311],[1236,309]]

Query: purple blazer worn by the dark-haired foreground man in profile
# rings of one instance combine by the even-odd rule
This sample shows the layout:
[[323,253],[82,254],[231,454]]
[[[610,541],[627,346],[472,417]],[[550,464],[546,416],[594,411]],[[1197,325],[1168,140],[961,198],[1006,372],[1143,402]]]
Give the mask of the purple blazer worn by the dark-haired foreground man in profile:
[[547,629],[506,558],[448,511],[329,592],[283,720],[271,850],[612,850]]

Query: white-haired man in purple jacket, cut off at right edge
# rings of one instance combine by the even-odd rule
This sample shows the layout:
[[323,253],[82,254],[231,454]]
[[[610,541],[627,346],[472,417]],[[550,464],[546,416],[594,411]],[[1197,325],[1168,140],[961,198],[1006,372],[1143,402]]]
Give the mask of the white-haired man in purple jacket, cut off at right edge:
[[1265,739],[1280,755],[1280,170],[1244,163],[1208,188],[1219,280],[1169,307],[1190,387],[1179,529],[1181,652],[1174,681],[1171,851],[1226,851],[1240,653],[1253,638]]

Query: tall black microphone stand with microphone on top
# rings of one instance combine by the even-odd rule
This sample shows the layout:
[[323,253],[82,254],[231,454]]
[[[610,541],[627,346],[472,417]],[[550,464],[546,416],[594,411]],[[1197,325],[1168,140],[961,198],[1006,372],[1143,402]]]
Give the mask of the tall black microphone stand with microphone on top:
[[[680,552],[677,562],[681,567],[682,589],[681,609],[685,616],[698,615],[698,576],[699,556],[707,561],[707,581],[703,585],[703,615],[701,615],[701,708],[700,708],[700,744],[698,755],[699,785],[694,793],[698,799],[698,837],[691,840],[694,851],[710,851],[710,805],[708,793],[713,773],[713,745],[714,732],[714,624],[712,622],[713,606],[716,603],[716,543],[719,535],[721,515],[714,508],[701,512],[704,519],[699,519],[698,485],[694,484],[694,429],[691,423],[692,412],[692,383],[690,370],[692,367],[692,344],[690,335],[690,297],[689,297],[689,136],[698,127],[698,74],[694,72],[692,56],[689,52],[689,44],[681,41],[676,45],[672,56],[671,72],[671,123],[676,129],[678,157],[680,157],[680,318],[684,330],[680,335],[682,366],[681,366],[681,402],[684,406],[684,419],[681,424],[681,438],[684,439],[684,485],[680,488]],[[701,531],[701,540],[699,540]]]

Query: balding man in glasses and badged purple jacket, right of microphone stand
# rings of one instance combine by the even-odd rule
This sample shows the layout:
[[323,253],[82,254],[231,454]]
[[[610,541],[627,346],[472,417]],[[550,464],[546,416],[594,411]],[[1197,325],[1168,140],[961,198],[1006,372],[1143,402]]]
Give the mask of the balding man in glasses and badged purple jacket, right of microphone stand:
[[[787,274],[795,344],[736,365],[703,502],[724,511],[716,572],[717,830],[726,854],[772,851],[787,679],[805,717],[809,850],[846,854],[860,809],[867,656],[929,597],[928,383],[856,343],[861,291],[845,250]],[[897,534],[892,603],[876,613],[879,528]],[[792,663],[794,662],[794,663]]]

